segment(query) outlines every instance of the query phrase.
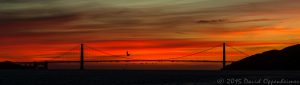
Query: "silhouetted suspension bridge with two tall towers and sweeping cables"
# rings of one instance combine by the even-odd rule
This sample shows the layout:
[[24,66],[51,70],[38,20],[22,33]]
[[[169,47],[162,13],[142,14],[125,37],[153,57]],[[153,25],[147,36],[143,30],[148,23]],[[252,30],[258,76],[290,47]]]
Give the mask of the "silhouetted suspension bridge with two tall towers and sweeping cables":
[[[128,54],[128,51],[127,51],[127,54],[124,55],[124,56],[114,55],[114,54],[99,50],[97,48],[87,46],[85,44],[80,44],[80,46],[75,46],[75,47],[69,49],[68,51],[61,53],[59,56],[53,57],[53,59],[62,58],[64,56],[70,54],[70,52],[72,52],[73,50],[78,50],[78,47],[80,48],[79,61],[78,60],[47,60],[47,61],[39,61],[39,62],[15,62],[15,63],[18,63],[18,64],[23,65],[23,66],[33,67],[34,69],[48,69],[48,64],[49,63],[80,63],[80,68],[79,69],[84,70],[85,69],[84,64],[86,62],[220,62],[220,63],[222,63],[222,67],[224,68],[226,66],[226,63],[234,62],[234,61],[226,60],[226,47],[230,47],[231,49],[236,50],[237,52],[239,52],[239,53],[241,53],[245,56],[249,56],[247,53],[245,53],[245,52],[243,52],[243,51],[241,51],[241,50],[239,50],[239,49],[237,49],[237,48],[235,48],[231,45],[228,45],[226,43],[218,44],[216,46],[211,46],[208,49],[204,49],[204,50],[201,50],[201,51],[198,51],[198,52],[195,52],[195,53],[191,53],[191,54],[188,54],[188,55],[184,55],[184,56],[172,57],[172,58],[166,58],[166,59],[151,59],[151,60],[150,59],[134,59],[134,58],[131,58],[129,56],[130,54]],[[193,56],[193,55],[205,53],[205,52],[207,52],[209,50],[212,50],[214,48],[217,48],[217,47],[222,47],[222,61],[181,59],[181,58],[190,57],[190,56]],[[114,58],[119,58],[119,59],[85,60],[85,53],[86,53],[85,49],[97,51],[97,52],[100,52],[102,54],[108,55],[109,57],[114,57]]]

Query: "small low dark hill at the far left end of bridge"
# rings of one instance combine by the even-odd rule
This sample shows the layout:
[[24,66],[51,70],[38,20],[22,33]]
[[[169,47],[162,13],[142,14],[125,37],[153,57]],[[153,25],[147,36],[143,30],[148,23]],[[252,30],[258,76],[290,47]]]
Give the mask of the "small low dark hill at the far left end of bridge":
[[23,67],[10,61],[5,61],[0,62],[0,69],[26,69],[26,67]]

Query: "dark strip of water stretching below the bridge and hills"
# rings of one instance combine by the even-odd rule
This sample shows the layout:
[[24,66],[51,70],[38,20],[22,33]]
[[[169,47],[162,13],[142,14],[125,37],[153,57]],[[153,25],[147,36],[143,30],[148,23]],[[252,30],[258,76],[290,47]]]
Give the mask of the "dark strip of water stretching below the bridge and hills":
[[[0,85],[241,85],[249,83],[246,79],[284,79],[298,82],[273,85],[300,84],[300,71],[0,70],[0,73]],[[268,84],[261,82],[261,85]]]

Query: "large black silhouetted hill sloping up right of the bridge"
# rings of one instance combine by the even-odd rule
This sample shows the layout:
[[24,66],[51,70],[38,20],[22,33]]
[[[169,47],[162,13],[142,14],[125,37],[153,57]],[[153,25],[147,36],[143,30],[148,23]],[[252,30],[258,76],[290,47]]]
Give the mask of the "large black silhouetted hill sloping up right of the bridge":
[[255,54],[223,68],[225,70],[300,70],[300,44]]

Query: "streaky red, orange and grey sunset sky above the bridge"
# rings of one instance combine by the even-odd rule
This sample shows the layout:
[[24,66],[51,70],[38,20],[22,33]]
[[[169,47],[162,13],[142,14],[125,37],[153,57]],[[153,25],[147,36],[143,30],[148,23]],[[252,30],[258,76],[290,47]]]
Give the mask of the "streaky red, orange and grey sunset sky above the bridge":
[[[52,60],[80,43],[135,59],[180,57],[222,42],[252,55],[298,43],[299,9],[300,0],[0,0],[0,61]],[[186,59],[221,60],[221,51]],[[64,60],[79,59],[71,57]],[[228,48],[229,60],[244,57]]]

